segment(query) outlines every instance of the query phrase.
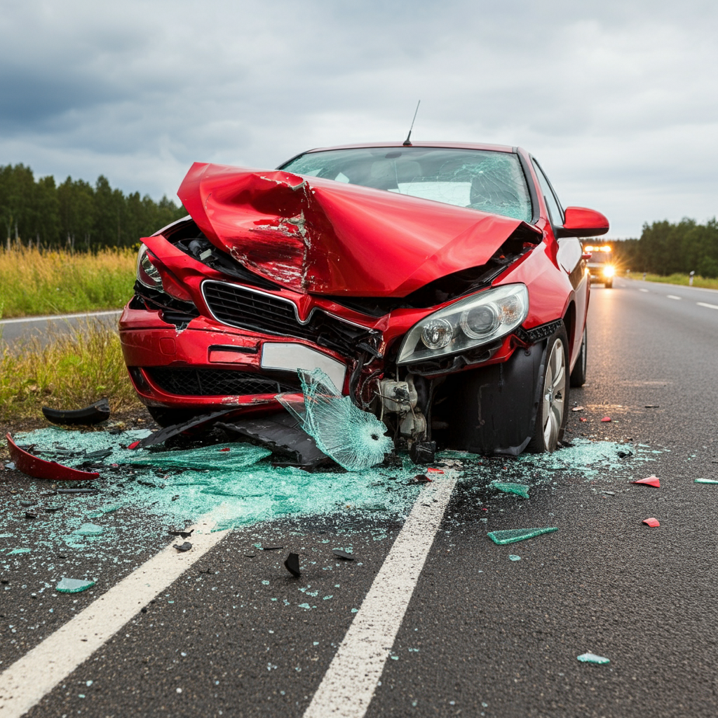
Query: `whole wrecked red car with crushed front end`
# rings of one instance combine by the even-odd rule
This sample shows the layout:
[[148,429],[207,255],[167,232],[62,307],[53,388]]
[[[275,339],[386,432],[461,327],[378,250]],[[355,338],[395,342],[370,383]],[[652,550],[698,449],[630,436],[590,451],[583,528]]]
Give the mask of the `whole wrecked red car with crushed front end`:
[[[313,149],[279,169],[192,165],[187,218],[143,240],[120,320],[159,424],[283,411],[321,368],[396,441],[551,451],[586,374],[578,237],[520,148],[447,142]],[[569,378],[570,377],[570,378]]]

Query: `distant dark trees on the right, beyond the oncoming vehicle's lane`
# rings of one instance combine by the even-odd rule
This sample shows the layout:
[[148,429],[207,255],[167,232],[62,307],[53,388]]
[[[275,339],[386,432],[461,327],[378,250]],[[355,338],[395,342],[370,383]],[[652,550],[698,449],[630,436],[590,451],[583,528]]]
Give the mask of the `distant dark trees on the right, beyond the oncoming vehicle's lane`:
[[638,239],[612,243],[621,269],[648,271],[653,274],[688,274],[718,277],[718,221],[701,225],[684,218],[644,224]]

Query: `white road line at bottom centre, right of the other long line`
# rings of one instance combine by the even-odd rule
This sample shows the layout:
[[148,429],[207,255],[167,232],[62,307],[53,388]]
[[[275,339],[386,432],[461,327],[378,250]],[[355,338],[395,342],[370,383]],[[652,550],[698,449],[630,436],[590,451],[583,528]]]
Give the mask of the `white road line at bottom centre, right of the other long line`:
[[363,718],[455,484],[421,489],[304,718]]

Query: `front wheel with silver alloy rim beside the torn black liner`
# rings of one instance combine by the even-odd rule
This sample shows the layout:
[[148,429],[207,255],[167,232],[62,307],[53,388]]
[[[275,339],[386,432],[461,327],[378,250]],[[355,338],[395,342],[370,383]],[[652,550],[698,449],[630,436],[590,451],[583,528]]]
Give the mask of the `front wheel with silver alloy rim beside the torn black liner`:
[[564,438],[569,412],[569,337],[561,326],[549,338],[539,377],[538,408],[528,450],[551,452]]

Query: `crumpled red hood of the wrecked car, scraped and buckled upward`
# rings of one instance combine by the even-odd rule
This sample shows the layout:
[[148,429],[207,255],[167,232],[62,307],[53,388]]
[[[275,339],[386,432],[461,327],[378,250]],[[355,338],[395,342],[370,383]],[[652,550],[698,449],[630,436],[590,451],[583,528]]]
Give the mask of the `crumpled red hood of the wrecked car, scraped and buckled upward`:
[[205,236],[266,279],[312,294],[406,297],[485,264],[519,225],[370,187],[195,162],[177,192]]

